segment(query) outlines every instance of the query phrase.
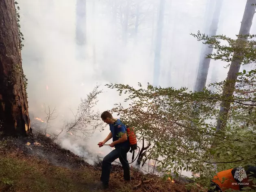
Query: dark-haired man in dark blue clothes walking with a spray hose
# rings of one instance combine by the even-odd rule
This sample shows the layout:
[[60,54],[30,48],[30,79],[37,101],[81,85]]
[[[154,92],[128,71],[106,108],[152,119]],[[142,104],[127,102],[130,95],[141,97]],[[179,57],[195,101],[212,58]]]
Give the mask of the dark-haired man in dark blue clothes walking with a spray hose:
[[99,147],[102,147],[108,140],[113,138],[113,142],[110,147],[115,147],[113,151],[108,153],[102,161],[102,173],[101,182],[103,188],[108,188],[109,175],[111,171],[111,163],[119,158],[123,170],[124,170],[124,180],[130,181],[130,166],[127,161],[127,153],[130,150],[130,143],[127,139],[126,126],[116,118],[113,118],[112,114],[108,111],[104,111],[101,114],[101,119],[109,125],[110,133],[102,141],[99,142]]

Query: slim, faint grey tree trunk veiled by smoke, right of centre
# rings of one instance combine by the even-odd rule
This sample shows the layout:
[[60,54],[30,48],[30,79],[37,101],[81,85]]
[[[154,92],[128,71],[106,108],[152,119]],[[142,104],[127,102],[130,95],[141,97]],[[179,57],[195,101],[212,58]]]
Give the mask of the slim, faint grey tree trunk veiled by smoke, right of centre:
[[165,0],[160,0],[158,9],[158,21],[156,30],[156,47],[155,47],[155,58],[154,58],[154,76],[153,85],[158,86],[159,75],[160,75],[160,59],[161,59],[161,48],[162,48],[162,30],[163,30],[163,19],[164,19],[164,8]]

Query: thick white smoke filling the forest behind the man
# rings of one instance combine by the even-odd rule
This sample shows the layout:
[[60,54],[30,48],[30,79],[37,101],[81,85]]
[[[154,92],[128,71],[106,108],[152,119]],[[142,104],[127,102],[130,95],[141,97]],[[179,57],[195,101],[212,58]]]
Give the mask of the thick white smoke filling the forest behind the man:
[[[152,3],[144,1],[141,5],[142,19],[136,42],[135,17],[131,9],[127,44],[121,37],[123,27],[120,21],[124,15],[117,13],[114,19],[113,13],[119,10],[114,11],[111,2],[95,0],[93,16],[93,2],[87,0],[85,46],[76,44],[76,1],[22,0],[18,3],[25,39],[22,59],[28,79],[29,112],[44,119],[43,104],[48,104],[51,109],[56,107],[58,117],[51,121],[50,130],[60,130],[73,118],[71,110],[76,110],[80,98],[85,98],[96,83],[102,84],[104,91],[95,108],[101,112],[110,110],[115,103],[123,103],[124,99],[104,84],[121,83],[134,87],[137,87],[137,82],[152,84],[158,0]],[[189,34],[204,29],[205,1],[166,1],[165,6],[159,84],[175,88],[187,86],[192,90],[202,42]],[[245,1],[224,0],[217,34],[236,38],[244,7]],[[223,66],[226,63],[212,60],[209,77],[215,68],[217,78],[225,79],[228,69]],[[106,127],[87,140],[70,136],[59,142],[63,148],[87,157],[87,161],[93,164],[95,151],[104,154],[111,151],[110,147],[99,148],[97,145],[108,133]]]

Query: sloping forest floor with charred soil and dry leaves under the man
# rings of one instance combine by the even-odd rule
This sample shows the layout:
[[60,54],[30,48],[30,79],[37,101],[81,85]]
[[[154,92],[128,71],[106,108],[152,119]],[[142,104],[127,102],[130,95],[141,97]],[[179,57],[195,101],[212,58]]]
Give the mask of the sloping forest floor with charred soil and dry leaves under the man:
[[112,166],[109,189],[100,190],[100,174],[101,162],[90,165],[44,135],[0,135],[0,192],[188,192],[184,183],[144,175],[135,168],[131,181],[124,181],[119,165]]

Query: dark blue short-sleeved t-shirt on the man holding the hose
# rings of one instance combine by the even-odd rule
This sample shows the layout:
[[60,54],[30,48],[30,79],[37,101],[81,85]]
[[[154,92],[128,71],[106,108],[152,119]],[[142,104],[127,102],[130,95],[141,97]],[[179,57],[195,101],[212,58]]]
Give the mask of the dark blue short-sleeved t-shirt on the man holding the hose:
[[[121,133],[126,133],[126,126],[124,125],[124,123],[122,123],[120,121],[120,119],[117,119],[114,124],[109,124],[109,129],[112,133],[112,138],[113,138],[113,142],[116,140],[119,140],[120,136],[120,132]],[[117,145],[115,145],[115,147],[129,147],[130,143],[129,140],[127,139],[125,142],[119,143]]]

